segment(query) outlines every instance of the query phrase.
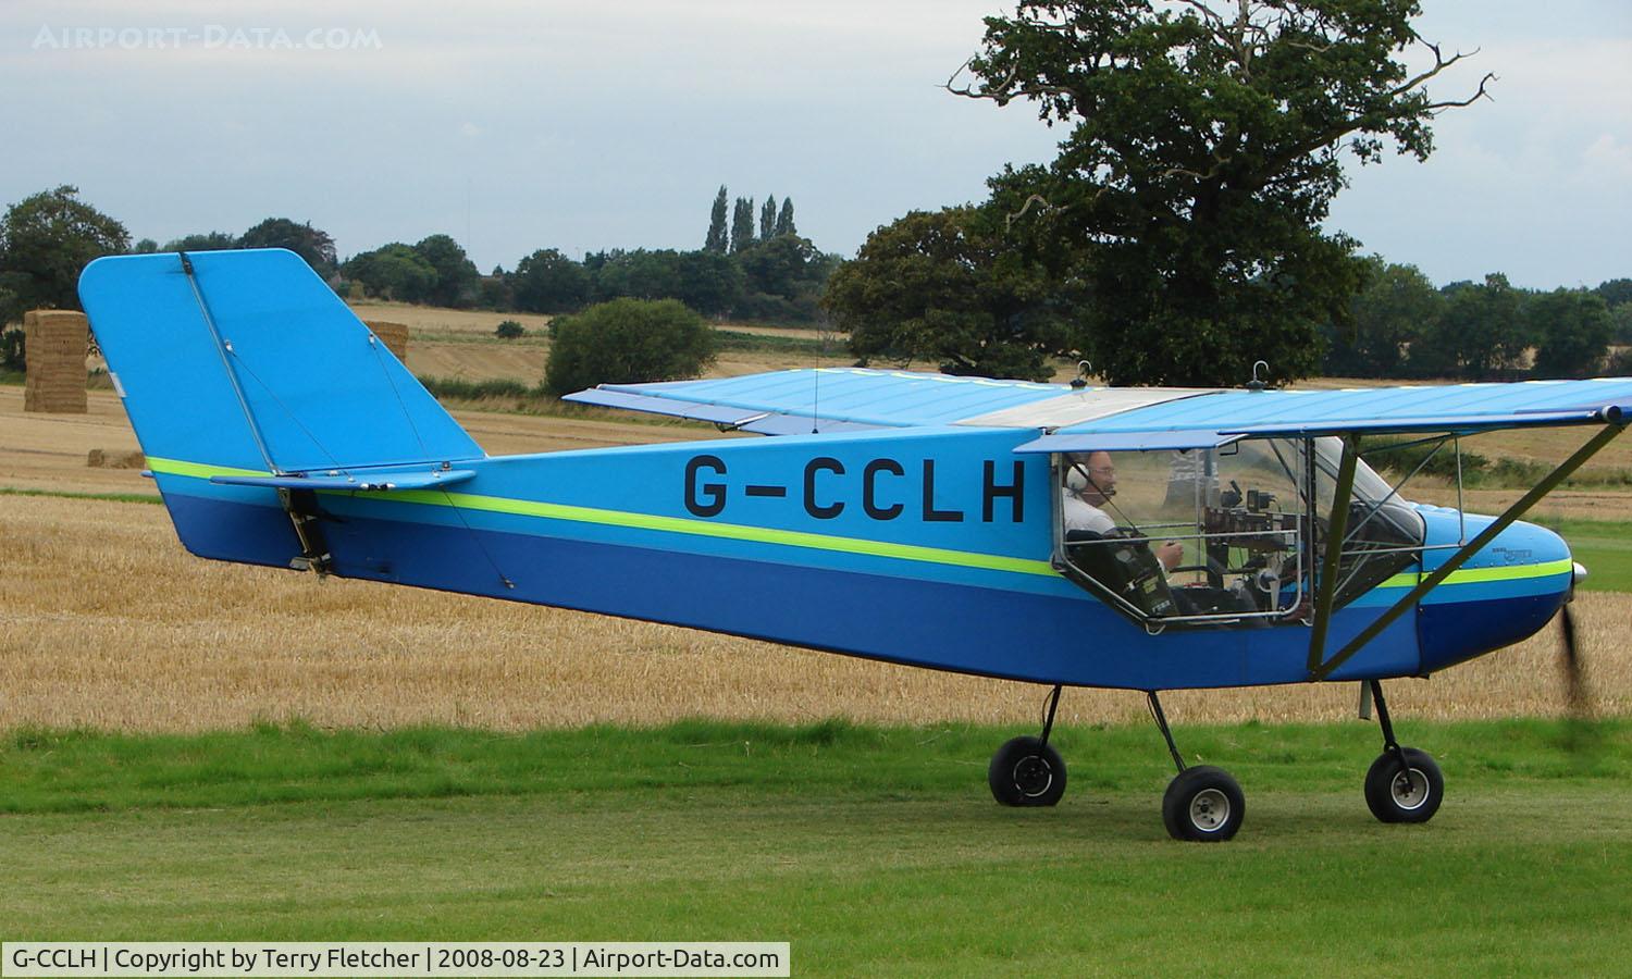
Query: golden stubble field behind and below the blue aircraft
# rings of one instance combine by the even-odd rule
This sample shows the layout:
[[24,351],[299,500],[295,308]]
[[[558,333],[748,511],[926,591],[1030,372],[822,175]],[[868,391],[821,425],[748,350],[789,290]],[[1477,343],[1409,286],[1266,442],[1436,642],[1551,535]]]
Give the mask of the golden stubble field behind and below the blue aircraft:
[[[490,452],[712,437],[705,427],[460,413]],[[0,486],[153,498],[137,470],[85,465],[135,439],[111,393],[86,416],[21,411],[0,388]],[[1596,509],[1596,507],[1594,507]],[[1573,514],[1577,511],[1560,511]],[[162,506],[0,496],[0,728],[202,731],[253,721],[494,729],[658,724],[687,716],[806,723],[1035,723],[1043,689],[770,643],[362,581],[201,561]],[[1632,710],[1632,596],[1580,597],[1599,710]],[[1562,710],[1557,635],[1392,684],[1402,716]],[[1335,720],[1353,685],[1172,693],[1175,721]],[[1072,690],[1066,723],[1129,723],[1138,693]]]

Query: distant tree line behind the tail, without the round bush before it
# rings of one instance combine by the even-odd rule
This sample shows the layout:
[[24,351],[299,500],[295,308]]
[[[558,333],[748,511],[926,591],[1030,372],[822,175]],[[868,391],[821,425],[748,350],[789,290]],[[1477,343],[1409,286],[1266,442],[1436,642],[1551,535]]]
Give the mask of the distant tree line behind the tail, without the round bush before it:
[[[720,188],[725,194],[726,188]],[[747,227],[725,232],[715,201],[705,246],[695,251],[614,248],[581,261],[555,248],[524,256],[512,271],[483,276],[450,235],[413,245],[392,241],[344,261],[333,237],[312,222],[269,217],[243,233],[202,232],[160,245],[132,245],[126,227],[59,186],[11,204],[0,220],[0,331],[29,308],[78,308],[78,272],[103,255],[287,248],[346,299],[388,299],[454,308],[571,313],[612,299],[674,299],[705,317],[772,323],[814,323],[819,299],[839,256],[798,235],[793,201],[765,199],[757,228],[751,197],[739,197]],[[18,346],[18,338],[0,344]]]

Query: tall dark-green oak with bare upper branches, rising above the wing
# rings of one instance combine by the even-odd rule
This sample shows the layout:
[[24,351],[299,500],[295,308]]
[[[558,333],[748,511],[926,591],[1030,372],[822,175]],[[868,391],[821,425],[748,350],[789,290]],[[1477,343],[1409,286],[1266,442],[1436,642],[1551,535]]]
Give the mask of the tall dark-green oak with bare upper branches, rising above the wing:
[[[1030,101],[1069,132],[992,178],[1013,246],[1085,286],[1079,348],[1118,383],[1240,383],[1319,365],[1366,277],[1320,222],[1342,160],[1426,158],[1444,55],[1415,0],[1023,2],[986,20],[958,95]],[[1421,54],[1423,67],[1407,67]],[[961,72],[960,72],[961,75]]]

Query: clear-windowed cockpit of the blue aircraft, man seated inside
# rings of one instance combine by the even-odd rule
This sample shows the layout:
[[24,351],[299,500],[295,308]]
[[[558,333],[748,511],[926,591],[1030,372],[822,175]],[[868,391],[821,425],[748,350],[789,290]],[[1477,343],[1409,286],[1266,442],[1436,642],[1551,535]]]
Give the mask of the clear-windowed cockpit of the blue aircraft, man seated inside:
[[[1342,452],[1335,437],[1283,437],[1056,454],[1054,565],[1147,628],[1306,622]],[[1361,460],[1345,524],[1333,607],[1408,568],[1425,535]]]

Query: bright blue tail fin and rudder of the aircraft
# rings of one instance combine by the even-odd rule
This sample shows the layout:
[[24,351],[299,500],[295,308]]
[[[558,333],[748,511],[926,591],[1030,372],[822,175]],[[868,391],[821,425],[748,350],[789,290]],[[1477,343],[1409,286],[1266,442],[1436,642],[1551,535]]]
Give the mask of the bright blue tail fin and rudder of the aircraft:
[[[80,276],[80,300],[194,553],[268,565],[308,553],[274,488],[287,478],[483,457],[290,251],[101,258]],[[242,485],[258,476],[268,486]]]

